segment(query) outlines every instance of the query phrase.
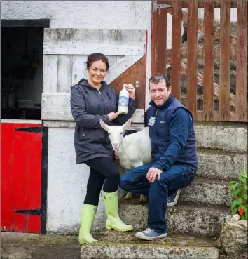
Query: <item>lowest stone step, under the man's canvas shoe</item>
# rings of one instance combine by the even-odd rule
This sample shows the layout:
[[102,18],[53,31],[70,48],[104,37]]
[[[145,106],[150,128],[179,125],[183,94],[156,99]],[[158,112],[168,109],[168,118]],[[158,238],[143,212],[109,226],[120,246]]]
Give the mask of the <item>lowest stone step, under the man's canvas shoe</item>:
[[[187,234],[168,234],[167,237],[163,239],[154,239],[152,241],[146,241],[142,239],[137,239],[135,237],[135,232],[116,232],[114,230],[104,230],[104,231],[93,231],[92,235],[95,239],[99,240],[98,242],[92,244],[86,244],[81,247],[82,255],[85,253],[89,253],[90,251],[96,251],[99,249],[105,249],[108,258],[109,252],[113,249],[116,251],[123,251],[127,249],[128,252],[132,253],[133,251],[136,253],[139,251],[140,257],[142,255],[147,255],[147,253],[151,252],[160,252],[159,255],[162,258],[165,258],[165,255],[170,252],[179,253],[180,251],[184,251],[190,254],[191,251],[194,251],[198,257],[202,258],[202,253],[206,256],[205,258],[218,258],[219,251],[216,246],[215,238],[206,238],[206,237],[192,237]],[[106,239],[106,241],[104,241]],[[141,253],[140,253],[141,252]],[[106,255],[106,253],[102,253],[102,255]],[[207,253],[207,254],[206,254]],[[211,253],[211,255],[209,254]],[[149,253],[149,255],[151,255]],[[127,254],[125,254],[127,256]],[[97,257],[100,258],[100,257]],[[104,257],[103,257],[104,258]],[[111,257],[112,258],[112,257]],[[113,257],[116,258],[116,257]],[[118,258],[120,258],[118,254]],[[130,258],[130,257],[123,257]],[[133,253],[132,253],[133,258]],[[145,258],[157,258],[156,255],[153,254],[153,257],[145,257]],[[168,258],[171,258],[170,256]],[[186,258],[186,257],[184,257]],[[195,258],[195,257],[194,257]]]

